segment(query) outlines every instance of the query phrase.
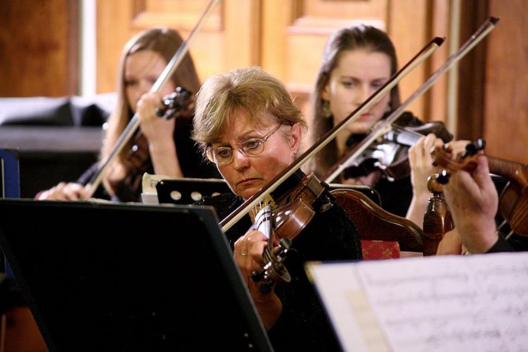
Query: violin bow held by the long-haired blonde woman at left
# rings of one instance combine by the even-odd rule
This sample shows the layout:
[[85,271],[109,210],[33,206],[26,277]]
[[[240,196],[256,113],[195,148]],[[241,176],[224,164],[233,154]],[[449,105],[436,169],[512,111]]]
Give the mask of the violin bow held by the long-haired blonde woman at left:
[[[198,23],[195,25],[194,28],[192,28],[189,37],[185,42],[183,42],[176,53],[171,58],[171,61],[168,62],[166,67],[164,68],[161,75],[159,75],[158,79],[154,84],[152,85],[152,88],[150,89],[150,92],[155,93],[158,92],[159,89],[161,89],[164,84],[170,79],[171,75],[174,73],[176,68],[180,65],[181,61],[185,57],[185,54],[189,51],[189,45],[190,42],[192,42],[192,39],[195,38],[196,34],[202,29],[205,20],[209,17],[209,15],[214,11],[214,8],[220,3],[221,0],[211,0],[209,2],[209,5],[207,5],[207,8],[205,8],[205,11],[202,13],[202,16],[199,18]],[[118,154],[123,150],[123,147],[125,144],[130,141],[130,138],[134,135],[135,131],[137,130],[137,127],[140,125],[140,118],[139,114],[135,113],[133,117],[128,122],[128,125],[126,125],[123,132],[121,132],[121,135],[119,136],[119,139],[117,140],[116,144],[113,146],[113,149],[111,150],[108,158],[104,161],[103,165],[99,170],[92,176],[90,181],[85,185],[85,190],[87,191],[87,194],[89,197],[92,197],[97,190],[97,187],[99,187],[99,184],[101,184],[104,173],[106,170],[108,170],[109,165],[113,163],[113,161],[116,159]]]

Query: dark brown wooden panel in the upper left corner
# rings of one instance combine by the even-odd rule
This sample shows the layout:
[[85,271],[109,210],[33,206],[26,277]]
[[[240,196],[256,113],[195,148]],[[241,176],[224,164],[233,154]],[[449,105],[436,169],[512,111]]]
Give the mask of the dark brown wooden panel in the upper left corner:
[[78,92],[77,1],[2,1],[0,23],[0,96]]

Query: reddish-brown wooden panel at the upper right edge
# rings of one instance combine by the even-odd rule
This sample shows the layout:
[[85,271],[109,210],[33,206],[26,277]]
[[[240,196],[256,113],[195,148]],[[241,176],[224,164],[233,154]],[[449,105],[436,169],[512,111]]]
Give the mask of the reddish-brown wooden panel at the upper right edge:
[[486,43],[484,138],[490,155],[528,163],[528,3],[491,0],[500,18]]

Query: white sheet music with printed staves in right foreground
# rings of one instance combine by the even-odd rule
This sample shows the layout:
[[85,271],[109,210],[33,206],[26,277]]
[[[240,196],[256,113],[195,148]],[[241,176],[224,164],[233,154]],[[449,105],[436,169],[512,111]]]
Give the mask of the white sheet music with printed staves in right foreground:
[[[348,273],[338,268],[343,265]],[[528,253],[321,266],[328,269],[319,272],[316,286],[326,291],[325,306],[341,300],[340,309],[327,309],[336,326],[344,325],[336,329],[345,351],[383,351],[372,344],[358,350],[346,336],[357,325],[365,330],[367,321],[389,351],[528,351]],[[337,275],[354,283],[336,286]],[[357,292],[366,296],[367,308]],[[352,319],[343,316],[345,306]]]

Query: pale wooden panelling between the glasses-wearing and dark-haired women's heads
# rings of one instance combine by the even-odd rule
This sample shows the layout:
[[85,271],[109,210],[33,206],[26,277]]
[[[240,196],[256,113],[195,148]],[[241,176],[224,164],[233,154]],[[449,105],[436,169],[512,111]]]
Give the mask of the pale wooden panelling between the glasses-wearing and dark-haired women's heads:
[[386,30],[387,1],[266,0],[262,14],[262,67],[285,82],[309,116],[309,95],[329,35],[360,23]]

